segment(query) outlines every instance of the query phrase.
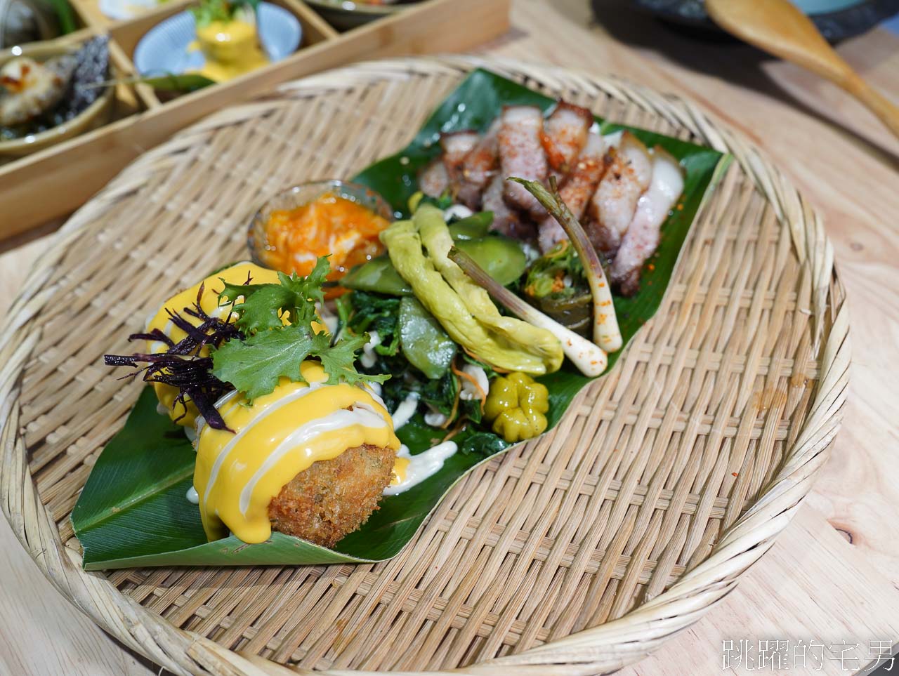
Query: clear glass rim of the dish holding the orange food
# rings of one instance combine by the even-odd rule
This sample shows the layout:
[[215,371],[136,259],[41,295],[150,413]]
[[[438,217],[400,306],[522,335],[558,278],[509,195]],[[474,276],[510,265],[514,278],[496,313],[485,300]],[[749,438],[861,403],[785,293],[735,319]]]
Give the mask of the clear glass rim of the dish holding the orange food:
[[286,191],[279,192],[271,200],[265,202],[262,208],[256,211],[253,220],[250,221],[246,245],[250,250],[250,257],[253,262],[267,267],[265,262],[263,262],[264,252],[268,247],[265,238],[265,224],[268,222],[272,211],[297,209],[316,200],[327,192],[371,209],[378,216],[387,218],[387,221],[393,221],[394,219],[393,209],[390,208],[387,201],[368,186],[338,179],[300,183]]

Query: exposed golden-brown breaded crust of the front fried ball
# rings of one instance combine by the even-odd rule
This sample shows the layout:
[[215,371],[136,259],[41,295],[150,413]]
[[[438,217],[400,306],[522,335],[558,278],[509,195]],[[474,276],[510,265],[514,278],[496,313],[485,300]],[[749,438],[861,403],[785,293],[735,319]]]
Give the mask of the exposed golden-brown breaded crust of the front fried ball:
[[269,504],[271,528],[334,547],[378,509],[394,458],[394,450],[365,445],[313,463]]

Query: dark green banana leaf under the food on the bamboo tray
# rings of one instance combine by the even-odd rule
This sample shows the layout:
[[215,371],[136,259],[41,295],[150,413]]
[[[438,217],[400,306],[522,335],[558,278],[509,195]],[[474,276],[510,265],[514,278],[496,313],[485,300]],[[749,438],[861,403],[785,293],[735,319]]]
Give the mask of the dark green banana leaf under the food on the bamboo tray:
[[[503,105],[531,104],[544,111],[555,101],[485,70],[459,84],[432,114],[408,147],[369,166],[353,180],[378,191],[404,216],[417,189],[417,173],[440,153],[442,131],[485,130]],[[597,119],[602,133],[623,129]],[[630,128],[628,128],[630,129]],[[708,147],[642,129],[631,129],[647,146],[664,147],[686,170],[678,209],[663,226],[662,241],[643,271],[641,289],[632,298],[615,298],[625,344],[652,317],[681,253],[702,200],[730,161]],[[620,352],[610,355],[611,369]],[[607,371],[608,372],[608,371]],[[590,382],[570,365],[541,378],[549,389],[550,428],[565,414],[574,396]],[[416,414],[398,431],[412,453],[428,449],[442,436]],[[478,447],[481,439],[491,443]],[[181,428],[156,413],[156,397],[147,387],[121,431],[103,449],[72,512],[76,536],[84,547],[87,570],[147,565],[304,565],[381,561],[413,538],[449,488],[473,467],[508,446],[493,435],[475,435],[469,452],[457,452],[441,470],[404,494],[385,498],[361,529],[334,549],[273,533],[271,539],[246,545],[231,536],[206,542],[196,505],[185,494],[193,476],[195,454]]]

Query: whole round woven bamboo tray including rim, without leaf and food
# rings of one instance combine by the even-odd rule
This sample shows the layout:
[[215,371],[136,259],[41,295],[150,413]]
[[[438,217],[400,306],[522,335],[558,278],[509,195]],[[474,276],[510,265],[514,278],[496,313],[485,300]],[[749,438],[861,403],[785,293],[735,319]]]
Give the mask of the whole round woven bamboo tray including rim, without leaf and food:
[[[69,512],[139,390],[102,353],[240,257],[266,195],[403,147],[475,65],[734,154],[654,320],[392,561],[83,572]],[[608,672],[699,619],[787,525],[840,424],[848,326],[821,220],[695,105],[506,61],[363,64],[201,121],[62,228],[0,342],[3,509],[69,600],[178,674]]]

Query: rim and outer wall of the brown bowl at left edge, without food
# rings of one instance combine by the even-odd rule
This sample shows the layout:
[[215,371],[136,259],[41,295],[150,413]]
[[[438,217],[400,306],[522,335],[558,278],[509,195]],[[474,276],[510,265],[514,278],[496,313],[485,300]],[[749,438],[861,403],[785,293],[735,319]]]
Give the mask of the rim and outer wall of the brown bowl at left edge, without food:
[[[7,50],[3,57],[0,57],[0,66],[20,56],[31,57],[38,63],[42,63],[49,58],[76,51],[78,47],[78,43],[72,44],[69,41],[48,41],[14,47]],[[114,76],[114,73],[111,73],[110,77],[113,78]],[[31,155],[31,153],[35,153],[45,147],[54,146],[68,138],[100,127],[110,120],[114,95],[115,87],[110,85],[103,90],[103,93],[97,97],[96,101],[71,120],[66,120],[56,127],[40,131],[37,134],[29,134],[22,138],[0,140],[0,156],[21,157]]]

